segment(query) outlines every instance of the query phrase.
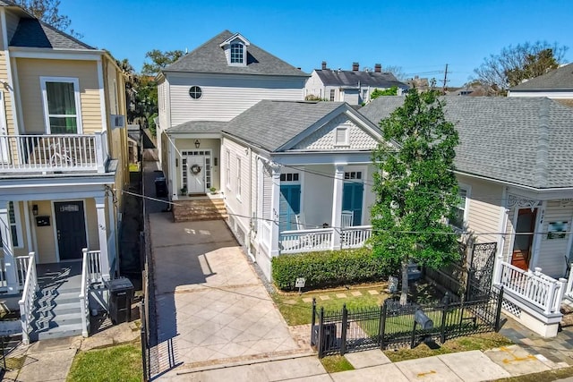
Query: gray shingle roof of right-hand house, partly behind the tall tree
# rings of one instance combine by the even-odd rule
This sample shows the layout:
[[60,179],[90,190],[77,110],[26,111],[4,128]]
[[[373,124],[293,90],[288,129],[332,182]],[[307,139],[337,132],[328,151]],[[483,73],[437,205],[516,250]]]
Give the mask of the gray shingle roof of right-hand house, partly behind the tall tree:
[[[446,98],[456,125],[458,171],[537,189],[573,187],[573,109],[548,98]],[[402,97],[381,97],[360,109],[372,123]]]

